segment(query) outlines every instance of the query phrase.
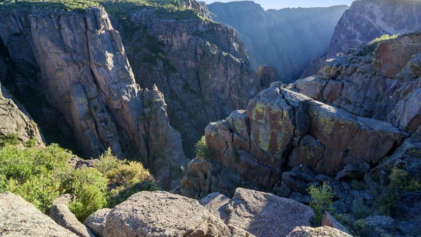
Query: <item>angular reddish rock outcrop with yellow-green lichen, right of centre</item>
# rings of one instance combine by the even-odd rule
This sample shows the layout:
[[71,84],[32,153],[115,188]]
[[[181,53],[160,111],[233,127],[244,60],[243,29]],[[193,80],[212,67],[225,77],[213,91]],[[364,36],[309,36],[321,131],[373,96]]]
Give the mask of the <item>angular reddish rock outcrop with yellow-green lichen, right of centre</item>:
[[[309,183],[319,182],[312,172],[336,175],[346,165],[361,165],[364,175],[369,171],[364,164],[377,164],[400,136],[386,122],[354,116],[274,85],[252,99],[247,111],[234,111],[206,127],[211,155],[190,162],[182,193],[232,196],[235,187],[282,193],[281,187],[290,184],[306,194]],[[308,182],[291,185],[297,175],[283,169],[300,165],[308,167],[309,175],[298,180]],[[230,170],[227,173],[236,179],[228,179],[221,169]]]

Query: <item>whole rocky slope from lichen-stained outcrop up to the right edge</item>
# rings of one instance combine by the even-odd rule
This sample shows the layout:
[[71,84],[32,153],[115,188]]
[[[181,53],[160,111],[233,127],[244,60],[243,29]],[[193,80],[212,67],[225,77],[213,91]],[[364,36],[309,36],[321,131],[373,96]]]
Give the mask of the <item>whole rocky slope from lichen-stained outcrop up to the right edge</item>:
[[320,184],[316,174],[363,177],[420,137],[420,46],[420,32],[404,34],[327,62],[317,77],[272,83],[247,111],[206,127],[209,152],[188,165],[182,192],[252,187],[296,197]]

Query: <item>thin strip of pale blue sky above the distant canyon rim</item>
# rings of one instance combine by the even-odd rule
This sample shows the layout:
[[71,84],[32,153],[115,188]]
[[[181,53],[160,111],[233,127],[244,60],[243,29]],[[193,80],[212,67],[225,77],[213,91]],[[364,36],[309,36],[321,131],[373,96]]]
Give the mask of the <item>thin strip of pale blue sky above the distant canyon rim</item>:
[[[199,0],[200,1],[200,0]],[[207,4],[214,2],[234,2],[233,0],[201,0]],[[351,6],[351,0],[254,0],[253,2],[260,4],[265,10],[281,9],[281,8],[312,8],[312,7],[330,7],[335,5]]]

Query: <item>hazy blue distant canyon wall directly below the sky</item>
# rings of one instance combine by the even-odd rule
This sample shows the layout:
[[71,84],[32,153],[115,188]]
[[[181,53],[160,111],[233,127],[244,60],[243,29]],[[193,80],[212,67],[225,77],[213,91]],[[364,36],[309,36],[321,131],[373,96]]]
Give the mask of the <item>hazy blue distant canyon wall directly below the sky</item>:
[[[208,5],[213,19],[234,27],[250,53],[251,65],[273,66],[291,82],[312,57],[327,50],[335,25],[347,6],[264,11],[251,1]],[[273,82],[273,81],[270,81]]]

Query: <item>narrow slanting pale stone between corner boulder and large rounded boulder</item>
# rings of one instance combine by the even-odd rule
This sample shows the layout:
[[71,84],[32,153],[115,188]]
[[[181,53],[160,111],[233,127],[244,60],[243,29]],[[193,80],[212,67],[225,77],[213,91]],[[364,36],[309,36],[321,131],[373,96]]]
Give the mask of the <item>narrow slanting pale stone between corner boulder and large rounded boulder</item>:
[[65,227],[80,237],[95,237],[94,233],[80,223],[65,204],[55,204],[50,210],[49,217],[55,223]]

